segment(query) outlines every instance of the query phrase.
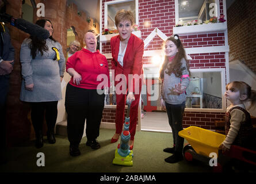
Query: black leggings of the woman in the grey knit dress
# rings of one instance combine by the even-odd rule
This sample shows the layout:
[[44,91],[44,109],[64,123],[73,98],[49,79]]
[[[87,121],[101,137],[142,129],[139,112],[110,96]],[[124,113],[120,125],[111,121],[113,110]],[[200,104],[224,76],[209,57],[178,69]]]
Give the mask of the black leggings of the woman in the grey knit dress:
[[31,120],[35,129],[36,136],[43,131],[44,112],[48,132],[54,131],[58,115],[58,101],[52,102],[30,102]]

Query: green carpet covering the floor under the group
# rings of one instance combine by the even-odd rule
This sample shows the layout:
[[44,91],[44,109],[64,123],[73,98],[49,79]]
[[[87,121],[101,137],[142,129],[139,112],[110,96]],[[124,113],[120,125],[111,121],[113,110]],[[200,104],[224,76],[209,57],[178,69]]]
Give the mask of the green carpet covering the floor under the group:
[[[0,166],[2,172],[101,172],[101,173],[173,173],[211,172],[211,167],[201,163],[190,164],[185,160],[170,164],[165,158],[170,156],[163,148],[173,144],[171,133],[136,132],[133,147],[133,166],[113,165],[117,143],[110,144],[113,129],[100,129],[98,141],[101,148],[92,150],[86,146],[86,137],[79,145],[81,156],[69,155],[69,142],[65,136],[56,136],[56,144],[49,144],[44,137],[44,147],[36,149],[34,141],[9,148],[7,164]],[[186,142],[186,141],[185,141]],[[43,152],[45,166],[38,167],[36,155]]]

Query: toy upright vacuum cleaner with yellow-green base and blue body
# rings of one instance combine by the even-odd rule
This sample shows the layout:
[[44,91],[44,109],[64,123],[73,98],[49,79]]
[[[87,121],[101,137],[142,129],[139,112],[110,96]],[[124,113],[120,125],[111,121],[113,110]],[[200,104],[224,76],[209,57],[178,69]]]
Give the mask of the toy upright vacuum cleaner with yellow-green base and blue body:
[[124,131],[121,133],[121,141],[120,144],[117,146],[116,151],[114,152],[114,159],[113,164],[122,165],[122,166],[132,166],[132,158],[133,158],[133,151],[130,150],[129,141],[131,139],[131,135],[129,132],[129,125],[130,125],[130,108],[131,108],[132,101],[127,101],[128,109],[127,109],[127,117],[125,117],[124,122]]

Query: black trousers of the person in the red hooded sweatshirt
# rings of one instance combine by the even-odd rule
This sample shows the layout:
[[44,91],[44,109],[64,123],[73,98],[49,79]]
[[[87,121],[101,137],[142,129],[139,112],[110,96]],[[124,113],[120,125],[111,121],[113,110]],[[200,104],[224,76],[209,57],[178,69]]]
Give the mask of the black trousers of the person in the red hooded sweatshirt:
[[67,112],[67,136],[70,144],[79,144],[86,120],[87,140],[100,135],[105,94],[97,90],[82,89],[67,84],[65,108]]

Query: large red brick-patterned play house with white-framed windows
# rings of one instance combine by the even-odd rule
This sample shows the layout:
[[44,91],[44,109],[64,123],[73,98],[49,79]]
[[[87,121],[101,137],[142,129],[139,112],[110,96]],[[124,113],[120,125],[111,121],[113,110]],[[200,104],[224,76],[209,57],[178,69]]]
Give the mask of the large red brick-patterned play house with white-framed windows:
[[[223,0],[115,0],[100,1],[100,51],[111,70],[110,38],[116,35],[114,16],[121,9],[135,17],[134,32],[144,41],[142,89],[143,109],[161,111],[159,70],[163,61],[162,43],[178,34],[190,59],[190,85],[186,90],[184,128],[195,125],[216,129],[226,111],[223,98],[229,82],[226,1]],[[142,104],[139,106],[142,108]],[[102,127],[114,128],[115,97],[106,95]],[[140,130],[140,113],[137,129]]]

